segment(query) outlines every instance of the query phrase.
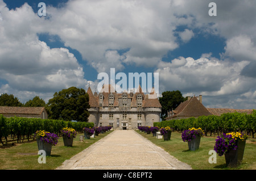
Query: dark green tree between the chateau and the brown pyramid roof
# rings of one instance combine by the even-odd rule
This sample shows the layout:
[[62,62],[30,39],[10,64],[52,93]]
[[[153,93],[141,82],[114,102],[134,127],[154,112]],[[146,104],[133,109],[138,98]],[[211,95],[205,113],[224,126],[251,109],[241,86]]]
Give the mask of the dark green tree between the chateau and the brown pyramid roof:
[[163,92],[162,97],[159,98],[159,102],[162,105],[162,120],[167,117],[168,111],[171,111],[172,109],[175,110],[175,108],[186,99],[187,98],[184,98],[179,90]]

